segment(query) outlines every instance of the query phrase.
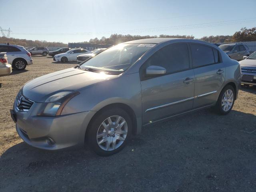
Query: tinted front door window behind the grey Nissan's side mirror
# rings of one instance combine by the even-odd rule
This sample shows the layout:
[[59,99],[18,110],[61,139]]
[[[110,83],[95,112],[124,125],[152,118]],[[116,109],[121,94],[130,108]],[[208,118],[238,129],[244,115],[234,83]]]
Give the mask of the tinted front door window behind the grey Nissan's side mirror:
[[189,54],[187,44],[171,44],[158,50],[144,64],[157,65],[166,68],[167,73],[172,73],[189,68]]

